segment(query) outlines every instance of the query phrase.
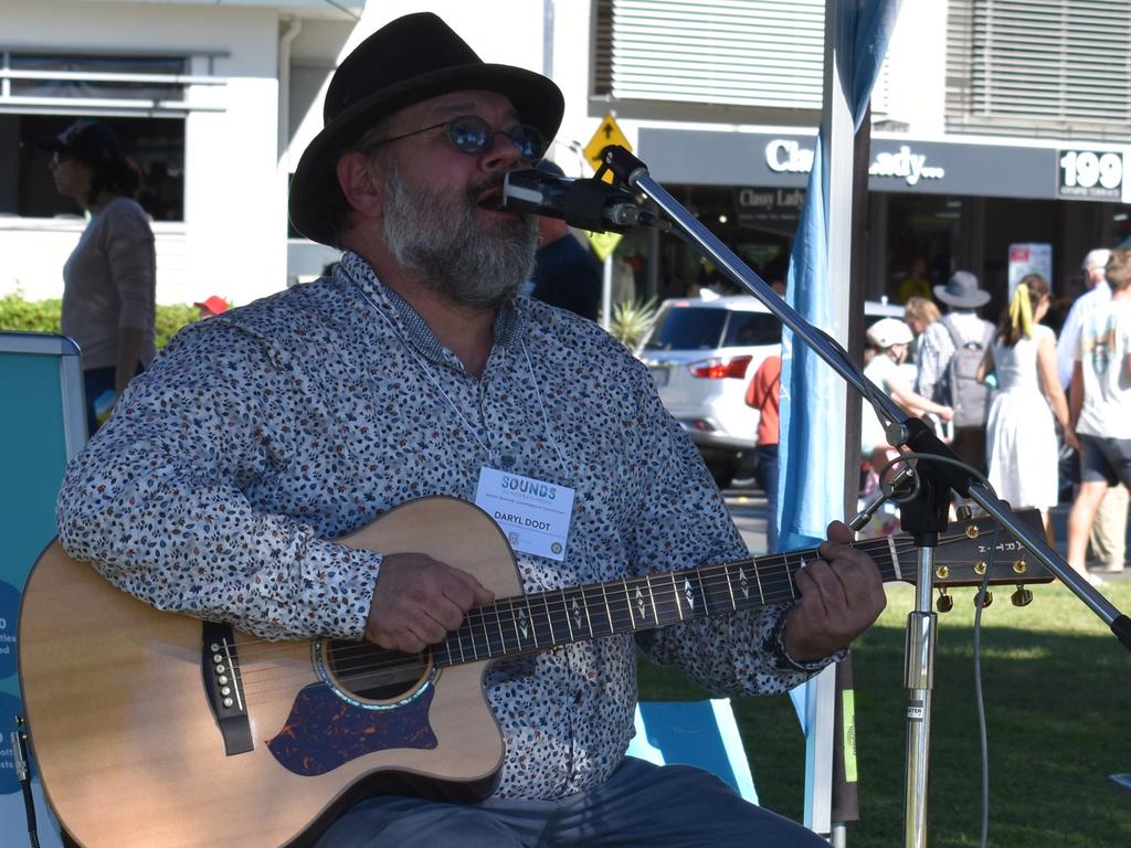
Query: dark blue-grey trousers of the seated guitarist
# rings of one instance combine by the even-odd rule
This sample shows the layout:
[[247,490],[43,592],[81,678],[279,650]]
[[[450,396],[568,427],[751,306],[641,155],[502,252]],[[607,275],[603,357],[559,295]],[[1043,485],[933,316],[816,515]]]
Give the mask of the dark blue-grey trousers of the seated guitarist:
[[359,802],[317,848],[828,848],[800,824],[743,801],[714,775],[625,758],[598,787],[559,801],[458,805]]

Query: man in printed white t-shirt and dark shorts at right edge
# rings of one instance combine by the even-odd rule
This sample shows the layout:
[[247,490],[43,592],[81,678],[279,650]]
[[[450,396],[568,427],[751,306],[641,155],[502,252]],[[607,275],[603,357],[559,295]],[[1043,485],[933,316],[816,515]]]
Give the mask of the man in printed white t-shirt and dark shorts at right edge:
[[1080,438],[1080,490],[1068,523],[1068,561],[1091,582],[1085,568],[1088,533],[1108,487],[1131,484],[1131,251],[1107,260],[1112,297],[1080,320],[1070,390],[1071,416]]

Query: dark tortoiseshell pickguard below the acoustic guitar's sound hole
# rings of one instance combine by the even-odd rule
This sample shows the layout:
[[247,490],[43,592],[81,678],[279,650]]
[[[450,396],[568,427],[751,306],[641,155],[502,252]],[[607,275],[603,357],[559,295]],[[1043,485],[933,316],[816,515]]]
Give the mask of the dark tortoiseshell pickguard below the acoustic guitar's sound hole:
[[338,698],[325,683],[303,689],[286,725],[267,743],[288,771],[303,777],[325,775],[359,756],[388,749],[434,749],[429,724],[435,686],[392,710],[366,710]]

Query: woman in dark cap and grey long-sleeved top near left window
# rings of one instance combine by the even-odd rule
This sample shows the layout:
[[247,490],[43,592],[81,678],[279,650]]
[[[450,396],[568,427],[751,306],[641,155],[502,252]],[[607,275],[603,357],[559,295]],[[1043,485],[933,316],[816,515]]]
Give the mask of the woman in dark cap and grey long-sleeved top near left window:
[[87,429],[93,434],[155,353],[153,231],[133,199],[141,174],[106,124],[79,120],[40,146],[54,153],[55,189],[89,215],[63,266],[62,332],[83,352]]

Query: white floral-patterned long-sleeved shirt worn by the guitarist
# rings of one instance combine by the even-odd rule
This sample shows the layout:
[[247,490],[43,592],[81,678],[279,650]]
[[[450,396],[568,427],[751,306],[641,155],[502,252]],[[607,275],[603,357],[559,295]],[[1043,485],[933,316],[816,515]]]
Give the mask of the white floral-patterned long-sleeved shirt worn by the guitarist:
[[[268,639],[360,639],[381,555],[334,539],[413,499],[474,501],[484,466],[576,491],[564,561],[517,554],[526,591],[746,556],[619,341],[525,297],[494,332],[476,379],[352,253],[334,277],[200,321],[69,466],[62,544],[155,607]],[[612,772],[633,733],[637,644],[719,692],[803,682],[829,660],[788,661],[783,612],[497,661],[498,793],[558,798]]]

